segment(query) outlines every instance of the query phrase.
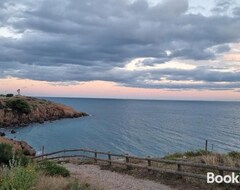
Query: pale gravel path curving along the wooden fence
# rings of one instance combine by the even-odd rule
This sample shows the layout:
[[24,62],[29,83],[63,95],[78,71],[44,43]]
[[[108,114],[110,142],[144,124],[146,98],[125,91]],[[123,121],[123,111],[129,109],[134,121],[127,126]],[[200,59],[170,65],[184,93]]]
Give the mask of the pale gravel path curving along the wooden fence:
[[172,188],[149,180],[137,179],[133,176],[101,170],[96,165],[64,165],[71,175],[93,187],[104,190],[172,190]]

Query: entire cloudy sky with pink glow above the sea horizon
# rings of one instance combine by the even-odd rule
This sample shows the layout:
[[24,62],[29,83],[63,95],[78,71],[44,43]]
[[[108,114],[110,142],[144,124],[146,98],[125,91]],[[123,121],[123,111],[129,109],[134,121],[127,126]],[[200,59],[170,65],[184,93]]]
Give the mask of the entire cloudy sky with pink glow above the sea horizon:
[[1,0],[0,94],[240,101],[237,0]]

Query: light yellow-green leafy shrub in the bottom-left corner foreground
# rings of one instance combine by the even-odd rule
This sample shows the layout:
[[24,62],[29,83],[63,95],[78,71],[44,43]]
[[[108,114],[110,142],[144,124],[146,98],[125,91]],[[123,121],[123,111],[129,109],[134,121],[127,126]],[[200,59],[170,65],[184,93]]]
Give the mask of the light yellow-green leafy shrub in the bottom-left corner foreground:
[[29,190],[33,188],[37,179],[37,172],[33,166],[5,168],[1,175],[0,190]]

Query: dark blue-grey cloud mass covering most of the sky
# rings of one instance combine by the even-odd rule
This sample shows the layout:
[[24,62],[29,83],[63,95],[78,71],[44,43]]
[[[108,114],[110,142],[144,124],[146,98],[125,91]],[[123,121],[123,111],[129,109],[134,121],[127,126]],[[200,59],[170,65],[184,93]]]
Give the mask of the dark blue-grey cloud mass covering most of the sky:
[[[161,76],[206,83],[195,88],[215,88],[219,82],[235,84],[240,82],[238,73],[209,68],[191,72],[123,69],[138,57],[151,57],[143,65],[152,66],[173,59],[207,61],[229,51],[227,44],[240,40],[239,7],[231,5],[217,1],[215,12],[232,9],[232,16],[207,17],[187,14],[187,0],[163,0],[155,6],[145,0],[2,0],[0,26],[22,37],[0,38],[0,77],[52,82],[105,80],[150,88],[181,86],[144,82]],[[229,88],[233,86],[236,84]]]

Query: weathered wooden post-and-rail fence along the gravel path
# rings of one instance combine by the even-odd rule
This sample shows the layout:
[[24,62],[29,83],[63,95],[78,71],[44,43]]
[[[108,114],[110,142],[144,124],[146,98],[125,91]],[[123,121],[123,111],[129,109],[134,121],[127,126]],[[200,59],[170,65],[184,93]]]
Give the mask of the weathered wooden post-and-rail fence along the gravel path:
[[[67,155],[71,153],[70,155]],[[78,153],[78,154],[77,154]],[[89,153],[89,155],[79,154],[79,153]],[[106,158],[100,158],[99,155],[104,155]],[[220,175],[224,175],[224,172],[236,172],[240,173],[240,168],[226,167],[226,166],[218,166],[218,165],[207,165],[201,163],[192,163],[185,161],[174,161],[174,160],[166,160],[166,159],[156,159],[156,158],[142,158],[130,156],[128,154],[114,154],[111,152],[100,152],[96,150],[87,150],[87,149],[69,149],[69,150],[60,150],[57,152],[52,152],[48,154],[42,154],[39,156],[35,156],[33,159],[37,160],[56,160],[56,159],[67,159],[67,158],[86,158],[92,159],[97,164],[98,161],[107,162],[109,166],[113,164],[124,165],[128,169],[130,168],[141,168],[147,169],[148,171],[157,171],[161,173],[175,174],[179,176],[193,177],[197,179],[206,180],[207,176],[203,174],[190,173],[183,170],[183,167],[192,167],[192,168],[200,168],[205,170],[213,170],[218,171]],[[115,158],[115,159],[114,159]],[[116,158],[122,158],[124,160],[119,160]],[[131,163],[131,159],[144,161],[146,165],[143,164],[135,164]],[[164,163],[169,165],[175,165],[176,170],[173,169],[164,169],[158,166],[153,166],[153,163]]]

